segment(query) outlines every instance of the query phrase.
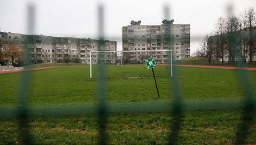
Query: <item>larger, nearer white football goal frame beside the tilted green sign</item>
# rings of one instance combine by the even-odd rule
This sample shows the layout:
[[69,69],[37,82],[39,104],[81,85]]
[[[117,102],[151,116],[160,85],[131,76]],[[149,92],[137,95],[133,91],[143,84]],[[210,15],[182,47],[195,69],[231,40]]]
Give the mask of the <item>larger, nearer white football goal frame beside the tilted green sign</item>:
[[138,51],[90,51],[90,78],[92,78],[92,52],[171,52],[171,76],[172,76],[172,50],[138,50]]

